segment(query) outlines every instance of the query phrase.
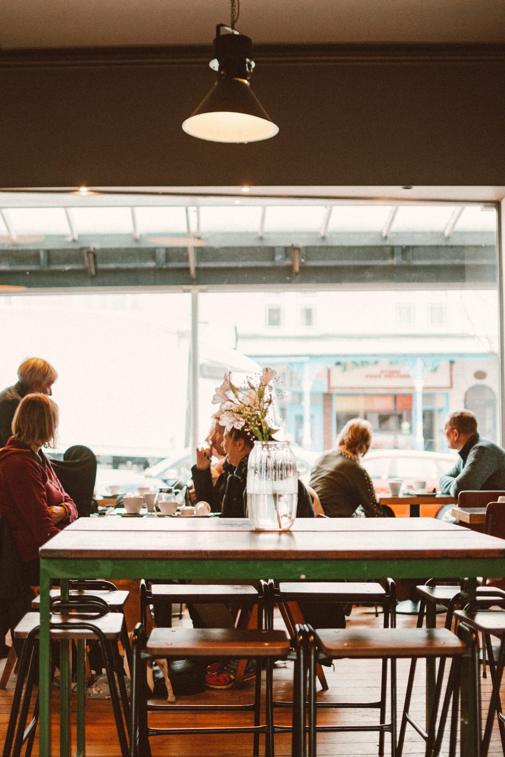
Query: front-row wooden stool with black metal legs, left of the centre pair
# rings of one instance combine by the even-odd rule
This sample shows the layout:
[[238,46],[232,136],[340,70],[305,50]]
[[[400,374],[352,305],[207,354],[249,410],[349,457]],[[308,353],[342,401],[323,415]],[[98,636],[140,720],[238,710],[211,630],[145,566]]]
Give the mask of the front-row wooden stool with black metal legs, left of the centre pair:
[[[285,659],[290,649],[285,631],[253,631],[236,628],[154,628],[147,643],[142,624],[133,632],[132,651],[132,709],[130,728],[130,757],[144,757],[149,753],[148,738],[167,734],[254,734],[254,749],[259,734],[265,734],[266,753],[273,755],[272,674],[273,661]],[[148,727],[148,696],[146,662],[149,659],[181,659],[185,657],[255,658],[265,661],[267,668],[266,718],[260,725],[261,679],[256,676],[254,704],[251,705],[172,705],[171,710],[254,710],[254,725],[205,728]],[[257,752],[256,752],[257,753]]]

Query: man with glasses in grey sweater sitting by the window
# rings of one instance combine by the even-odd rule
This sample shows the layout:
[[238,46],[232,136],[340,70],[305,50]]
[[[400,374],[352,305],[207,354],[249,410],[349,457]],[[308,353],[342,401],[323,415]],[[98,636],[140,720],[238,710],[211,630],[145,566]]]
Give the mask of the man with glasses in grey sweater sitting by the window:
[[460,491],[505,491],[505,450],[479,437],[473,413],[462,410],[447,416],[444,431],[447,444],[458,450],[459,457],[440,479],[441,494],[457,497]]

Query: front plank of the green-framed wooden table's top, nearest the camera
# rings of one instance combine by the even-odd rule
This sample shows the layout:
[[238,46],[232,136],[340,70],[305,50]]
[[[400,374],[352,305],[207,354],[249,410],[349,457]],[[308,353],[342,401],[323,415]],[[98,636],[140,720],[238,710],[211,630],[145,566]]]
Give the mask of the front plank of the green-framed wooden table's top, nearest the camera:
[[505,557],[505,540],[463,528],[404,531],[61,531],[41,559],[414,560]]

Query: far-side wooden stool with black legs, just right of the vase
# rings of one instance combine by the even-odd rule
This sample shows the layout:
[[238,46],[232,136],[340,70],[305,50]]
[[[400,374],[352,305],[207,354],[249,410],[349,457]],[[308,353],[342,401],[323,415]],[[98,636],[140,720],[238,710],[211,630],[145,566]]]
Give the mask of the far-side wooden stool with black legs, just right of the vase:
[[[392,628],[396,626],[396,587],[394,581],[388,578],[386,581],[386,588],[383,589],[381,584],[377,583],[340,583],[333,581],[299,581],[295,583],[279,584],[279,589],[274,593],[276,603],[285,603],[287,605],[288,615],[291,615],[289,609],[289,603],[301,602],[304,600],[310,600],[313,602],[340,602],[342,604],[348,603],[369,603],[371,605],[379,605],[384,608],[384,628]],[[279,605],[280,609],[280,605]],[[291,628],[288,626],[288,631],[291,632],[291,638],[296,637],[295,627],[297,623],[292,616],[290,617]],[[298,625],[304,625],[303,623]],[[267,628],[270,628],[267,625]],[[316,661],[316,665],[319,662]],[[316,670],[319,678],[319,671]],[[388,678],[388,663],[384,659],[382,661],[382,683],[381,683],[381,698],[379,702],[366,702],[357,703],[356,707],[366,707],[370,709],[377,707],[380,709],[381,722],[385,719],[386,709],[386,693],[387,693],[387,678]],[[323,687],[324,689],[325,687]],[[327,686],[326,686],[327,688]],[[292,702],[274,702],[274,707],[290,707]],[[340,705],[334,702],[317,702],[317,707],[321,709],[338,708]],[[288,726],[276,726],[277,729],[286,731],[289,730]],[[384,731],[379,732],[379,755],[384,754]]]

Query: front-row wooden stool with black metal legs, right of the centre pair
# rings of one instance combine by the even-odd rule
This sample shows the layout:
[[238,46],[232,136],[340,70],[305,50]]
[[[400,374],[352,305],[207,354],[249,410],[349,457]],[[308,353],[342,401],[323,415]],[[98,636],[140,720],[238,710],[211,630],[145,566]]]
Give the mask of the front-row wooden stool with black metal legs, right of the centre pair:
[[[472,663],[477,669],[476,661],[476,634],[472,633],[469,628],[462,628],[461,634],[472,640]],[[458,629],[460,630],[460,629]],[[431,755],[432,751],[438,755],[443,737],[444,725],[447,719],[447,712],[450,704],[450,698],[453,696],[453,718],[450,726],[450,757],[454,757],[457,740],[457,692],[459,690],[460,676],[460,658],[468,650],[467,644],[455,634],[451,634],[447,629],[432,628],[353,628],[350,630],[341,628],[320,628],[319,631],[313,631],[310,627],[298,628],[298,663],[297,674],[298,683],[297,691],[305,691],[305,673],[309,672],[309,751],[310,757],[316,755],[316,731],[388,731],[391,734],[391,757],[396,755],[396,685],[394,678],[394,668],[398,658],[422,658],[422,657],[451,657],[453,663],[447,689],[444,696],[444,703],[441,712],[441,722],[436,731],[436,721],[438,714],[438,702],[441,696],[443,676],[437,678],[437,693],[435,700],[437,706],[432,712],[432,719],[429,725],[428,733],[422,729],[408,715],[408,706],[410,702],[405,702],[403,720],[408,721],[416,731],[426,739],[426,755]],[[301,640],[300,640],[301,637]],[[304,660],[304,653],[307,659]],[[323,654],[330,659],[349,657],[351,659],[382,659],[391,660],[391,722],[380,722],[377,725],[355,725],[355,726],[323,726],[316,725],[316,687],[314,680],[316,654]],[[478,679],[475,677],[475,681]],[[475,703],[478,696],[474,697]],[[341,706],[349,707],[347,702],[342,702]],[[355,705],[351,703],[351,707]],[[361,705],[363,706],[363,705]],[[299,696],[296,715],[294,715],[295,724],[293,727],[294,746],[300,743],[299,755],[305,755],[305,696]],[[295,736],[295,727],[298,729],[298,737]],[[303,736],[303,738],[302,738]],[[298,747],[297,747],[298,748]]]

